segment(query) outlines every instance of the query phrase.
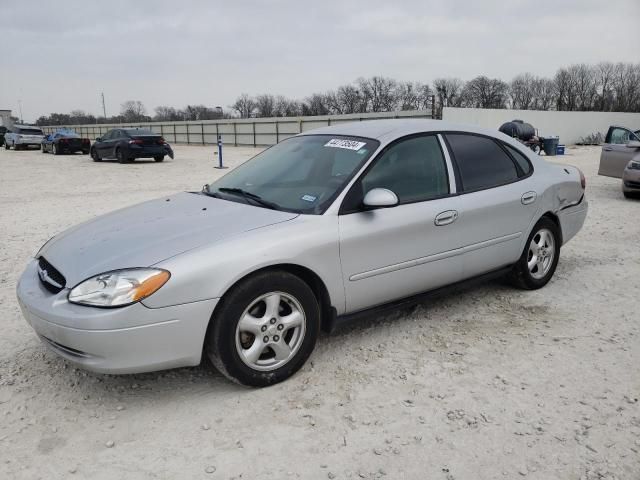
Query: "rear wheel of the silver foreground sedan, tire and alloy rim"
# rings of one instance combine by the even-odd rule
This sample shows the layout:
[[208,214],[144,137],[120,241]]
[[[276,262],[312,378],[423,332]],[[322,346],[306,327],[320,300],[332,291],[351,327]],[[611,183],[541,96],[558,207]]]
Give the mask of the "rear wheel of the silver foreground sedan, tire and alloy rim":
[[520,259],[509,274],[511,283],[525,290],[544,287],[556,271],[560,247],[558,225],[550,218],[542,217],[533,227]]

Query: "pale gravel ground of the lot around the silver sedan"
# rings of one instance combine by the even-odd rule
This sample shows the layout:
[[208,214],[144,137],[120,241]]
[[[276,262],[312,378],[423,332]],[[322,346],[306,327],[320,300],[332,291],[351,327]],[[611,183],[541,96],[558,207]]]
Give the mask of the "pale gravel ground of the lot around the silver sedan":
[[[226,148],[230,165],[257,150]],[[640,202],[558,161],[591,210],[542,290],[499,282],[323,335],[262,390],[208,365],[130,376],[49,353],[15,300],[54,233],[221,174],[213,148],[163,164],[0,150],[0,478],[640,478]]]

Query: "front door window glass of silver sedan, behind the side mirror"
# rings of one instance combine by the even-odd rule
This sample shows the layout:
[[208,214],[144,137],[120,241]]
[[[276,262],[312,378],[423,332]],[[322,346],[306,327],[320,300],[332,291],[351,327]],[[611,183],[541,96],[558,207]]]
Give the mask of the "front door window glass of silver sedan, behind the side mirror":
[[388,148],[365,173],[362,193],[387,188],[400,204],[449,194],[447,167],[435,135],[413,137]]

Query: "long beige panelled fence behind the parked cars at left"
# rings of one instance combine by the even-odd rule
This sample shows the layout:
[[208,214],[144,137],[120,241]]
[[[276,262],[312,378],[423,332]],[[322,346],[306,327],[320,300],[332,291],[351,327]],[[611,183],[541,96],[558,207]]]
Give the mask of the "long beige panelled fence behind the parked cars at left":
[[[273,145],[285,138],[314,128],[339,123],[376,120],[382,118],[432,118],[431,110],[409,110],[402,112],[355,113],[348,115],[322,115],[317,117],[277,117],[226,120],[199,120],[193,122],[150,122],[90,125],[64,125],[83,137],[95,140],[112,128],[147,128],[162,135],[170,143],[211,145],[222,137],[222,142],[231,145]],[[62,125],[42,127],[52,133]]]

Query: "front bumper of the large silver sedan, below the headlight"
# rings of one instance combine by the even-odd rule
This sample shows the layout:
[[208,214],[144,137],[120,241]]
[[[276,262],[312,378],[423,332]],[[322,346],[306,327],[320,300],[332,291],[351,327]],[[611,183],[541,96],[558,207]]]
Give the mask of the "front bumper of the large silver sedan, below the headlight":
[[217,299],[148,308],[94,308],[47,291],[31,261],[18,282],[22,313],[43,343],[69,362],[100,373],[140,373],[200,363]]

